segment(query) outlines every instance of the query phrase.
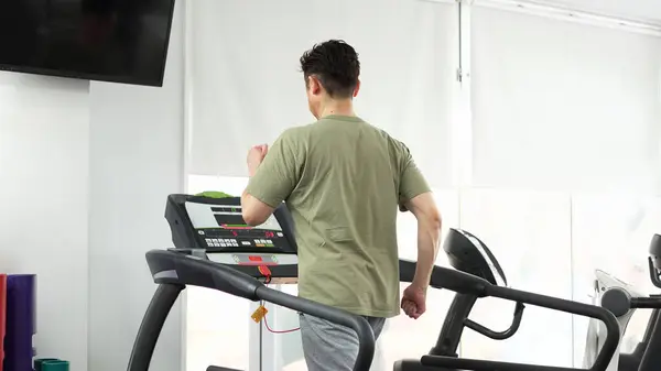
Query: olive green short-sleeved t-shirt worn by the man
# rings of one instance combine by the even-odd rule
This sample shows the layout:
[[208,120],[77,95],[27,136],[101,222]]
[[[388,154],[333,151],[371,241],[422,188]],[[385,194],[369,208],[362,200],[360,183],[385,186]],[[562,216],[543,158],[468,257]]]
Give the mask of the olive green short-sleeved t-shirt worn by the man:
[[398,205],[430,192],[403,143],[357,117],[328,116],[284,131],[246,192],[286,203],[301,297],[362,316],[400,313]]

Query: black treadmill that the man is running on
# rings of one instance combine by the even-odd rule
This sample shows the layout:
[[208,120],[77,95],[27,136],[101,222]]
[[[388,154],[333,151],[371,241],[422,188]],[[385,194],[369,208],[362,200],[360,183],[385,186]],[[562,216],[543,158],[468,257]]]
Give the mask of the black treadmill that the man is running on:
[[[348,312],[267,286],[295,283],[297,257],[286,207],[279,207],[262,226],[251,228],[241,217],[240,198],[170,195],[165,219],[174,249],[147,252],[159,286],[143,317],[128,371],[148,371],[172,306],[188,285],[217,290],[252,302],[268,302],[351,328],[358,335],[355,371],[368,371],[375,352],[367,320]],[[210,365],[207,371],[238,371]]]

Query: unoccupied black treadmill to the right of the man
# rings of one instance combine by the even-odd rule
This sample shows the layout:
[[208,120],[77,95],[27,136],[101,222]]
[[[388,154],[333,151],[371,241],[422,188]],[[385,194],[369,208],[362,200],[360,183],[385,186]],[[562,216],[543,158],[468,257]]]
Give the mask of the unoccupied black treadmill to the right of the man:
[[[507,277],[498,260],[489,248],[468,231],[451,229],[443,249],[449,264],[457,271],[449,274],[445,269],[435,269],[434,283],[442,288],[457,293],[449,306],[438,340],[429,354],[420,359],[405,359],[395,362],[394,371],[606,371],[616,353],[620,331],[616,317],[608,309],[573,301],[539,295],[507,287]],[[464,274],[463,274],[464,273]],[[469,274],[469,275],[466,275]],[[443,274],[443,276],[441,276]],[[438,285],[440,284],[440,285]],[[516,302],[510,328],[495,331],[468,319],[473,306],[481,297],[499,297]],[[496,362],[458,358],[457,348],[465,328],[469,328],[494,340],[511,338],[521,324],[524,305],[534,305],[552,310],[589,317],[603,324],[604,341],[588,368],[563,368],[541,364]]]

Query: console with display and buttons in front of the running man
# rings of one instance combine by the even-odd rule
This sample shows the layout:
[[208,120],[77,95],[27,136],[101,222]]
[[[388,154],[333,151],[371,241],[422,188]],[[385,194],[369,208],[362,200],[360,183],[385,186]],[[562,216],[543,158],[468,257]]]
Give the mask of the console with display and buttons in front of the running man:
[[250,227],[241,216],[239,197],[213,198],[170,195],[165,218],[177,249],[204,249],[206,252],[295,253],[289,236],[292,222],[281,205],[261,226]]

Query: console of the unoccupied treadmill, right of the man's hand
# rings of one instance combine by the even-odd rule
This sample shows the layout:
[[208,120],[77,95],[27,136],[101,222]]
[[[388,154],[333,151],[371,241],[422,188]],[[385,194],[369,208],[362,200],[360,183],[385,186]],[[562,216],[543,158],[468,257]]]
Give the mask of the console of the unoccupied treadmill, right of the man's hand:
[[507,286],[505,272],[491,250],[470,232],[451,229],[443,250],[454,269],[485,279],[494,285]]

